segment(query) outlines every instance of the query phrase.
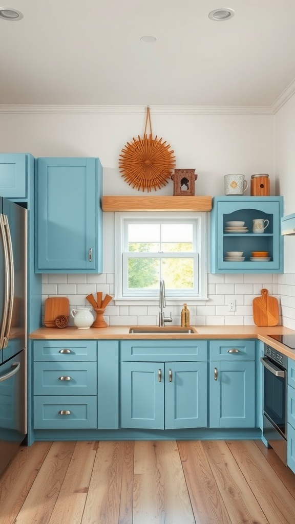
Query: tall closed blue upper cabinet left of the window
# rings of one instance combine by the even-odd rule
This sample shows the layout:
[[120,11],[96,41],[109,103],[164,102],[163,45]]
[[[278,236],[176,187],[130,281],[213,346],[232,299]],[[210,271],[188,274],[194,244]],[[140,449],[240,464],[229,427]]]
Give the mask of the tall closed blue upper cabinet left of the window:
[[102,272],[98,158],[38,158],[36,272]]

